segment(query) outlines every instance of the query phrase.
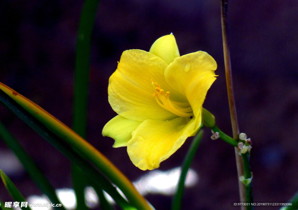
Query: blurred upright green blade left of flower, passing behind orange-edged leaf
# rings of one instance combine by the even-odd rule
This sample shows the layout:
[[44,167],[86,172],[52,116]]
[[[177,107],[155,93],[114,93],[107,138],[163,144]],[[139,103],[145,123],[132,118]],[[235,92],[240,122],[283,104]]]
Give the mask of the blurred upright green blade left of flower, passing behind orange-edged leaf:
[[[91,36],[99,0],[86,0],[81,13],[75,65],[73,130],[86,139],[87,100],[90,67]],[[72,181],[77,197],[77,209],[87,210],[84,197],[84,172],[72,164]]]

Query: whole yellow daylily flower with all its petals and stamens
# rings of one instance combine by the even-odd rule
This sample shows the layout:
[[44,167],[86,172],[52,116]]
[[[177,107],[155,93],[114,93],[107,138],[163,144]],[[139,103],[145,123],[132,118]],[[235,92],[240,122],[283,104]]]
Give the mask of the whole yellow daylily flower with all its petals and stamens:
[[173,34],[160,37],[149,52],[124,51],[108,86],[118,115],[104,126],[103,136],[114,138],[114,147],[127,146],[140,169],[158,168],[202,127],[216,68],[206,52],[180,56]]

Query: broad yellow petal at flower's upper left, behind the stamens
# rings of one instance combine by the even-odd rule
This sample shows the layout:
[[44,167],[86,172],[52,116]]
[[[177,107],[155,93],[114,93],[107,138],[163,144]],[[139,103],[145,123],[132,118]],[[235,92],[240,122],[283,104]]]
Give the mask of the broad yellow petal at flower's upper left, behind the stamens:
[[176,115],[159,106],[153,97],[155,88],[151,79],[165,91],[170,91],[173,97],[186,100],[165,81],[165,67],[167,64],[162,59],[146,51],[124,51],[117,70],[109,79],[108,100],[113,110],[135,121],[176,118]]

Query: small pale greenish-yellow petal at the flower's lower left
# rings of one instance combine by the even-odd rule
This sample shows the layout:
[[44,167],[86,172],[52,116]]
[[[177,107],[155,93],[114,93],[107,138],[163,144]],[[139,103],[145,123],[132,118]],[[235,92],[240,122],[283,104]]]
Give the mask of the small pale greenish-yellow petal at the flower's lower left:
[[131,132],[141,123],[117,115],[105,124],[102,134],[115,140],[113,147],[127,146],[128,140],[131,139]]

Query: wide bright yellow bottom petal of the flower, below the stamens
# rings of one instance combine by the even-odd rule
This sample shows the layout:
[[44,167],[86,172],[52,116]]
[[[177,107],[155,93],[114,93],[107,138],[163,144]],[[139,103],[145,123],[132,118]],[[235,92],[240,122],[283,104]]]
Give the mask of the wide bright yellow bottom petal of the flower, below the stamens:
[[152,170],[166,160],[194,135],[195,119],[178,117],[173,120],[145,120],[132,133],[127,143],[131,161],[142,170]]

